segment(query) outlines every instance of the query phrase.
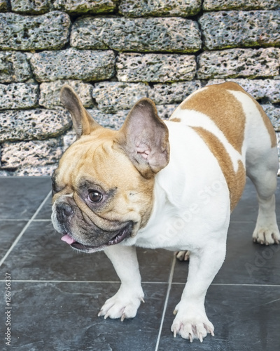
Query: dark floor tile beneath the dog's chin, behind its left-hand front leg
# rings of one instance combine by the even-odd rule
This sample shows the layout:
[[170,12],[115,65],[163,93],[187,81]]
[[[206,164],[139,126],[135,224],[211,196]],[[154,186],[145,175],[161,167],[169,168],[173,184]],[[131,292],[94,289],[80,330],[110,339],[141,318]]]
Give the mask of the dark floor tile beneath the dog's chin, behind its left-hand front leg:
[[[144,282],[168,282],[172,252],[137,248],[137,253]],[[13,279],[17,280],[119,280],[104,252],[90,255],[73,251],[60,240],[50,221],[34,221],[29,225],[0,267],[0,274],[12,270]]]

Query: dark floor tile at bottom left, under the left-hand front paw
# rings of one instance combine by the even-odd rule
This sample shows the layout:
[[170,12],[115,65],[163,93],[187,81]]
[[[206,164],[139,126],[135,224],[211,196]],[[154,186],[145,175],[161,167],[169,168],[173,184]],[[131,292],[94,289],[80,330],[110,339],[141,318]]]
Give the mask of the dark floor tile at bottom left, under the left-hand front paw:
[[[123,351],[132,350],[135,340],[137,350],[153,350],[167,284],[157,284],[156,289],[144,284],[148,300],[134,319],[120,322],[97,317],[99,308],[118,286],[13,282],[13,345],[1,350]],[[1,324],[4,330],[3,320]]]

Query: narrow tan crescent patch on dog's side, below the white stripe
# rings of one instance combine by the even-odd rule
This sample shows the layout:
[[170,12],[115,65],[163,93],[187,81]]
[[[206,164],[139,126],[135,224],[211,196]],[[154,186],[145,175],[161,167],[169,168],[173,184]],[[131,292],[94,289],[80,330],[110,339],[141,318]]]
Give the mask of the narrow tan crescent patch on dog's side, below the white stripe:
[[220,165],[223,175],[225,176],[225,180],[228,183],[228,189],[230,191],[230,210],[233,211],[241,197],[246,182],[246,171],[244,165],[239,160],[238,170],[235,172],[230,155],[216,135],[202,127],[192,128],[200,135],[200,137],[209,147],[209,150],[218,160],[218,164]]

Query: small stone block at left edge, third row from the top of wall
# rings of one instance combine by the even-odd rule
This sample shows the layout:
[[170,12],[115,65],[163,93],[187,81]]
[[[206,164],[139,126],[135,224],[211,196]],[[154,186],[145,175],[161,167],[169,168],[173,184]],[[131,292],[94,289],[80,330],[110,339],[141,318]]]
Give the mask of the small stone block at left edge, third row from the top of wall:
[[27,55],[13,51],[0,52],[0,83],[27,81],[30,77]]

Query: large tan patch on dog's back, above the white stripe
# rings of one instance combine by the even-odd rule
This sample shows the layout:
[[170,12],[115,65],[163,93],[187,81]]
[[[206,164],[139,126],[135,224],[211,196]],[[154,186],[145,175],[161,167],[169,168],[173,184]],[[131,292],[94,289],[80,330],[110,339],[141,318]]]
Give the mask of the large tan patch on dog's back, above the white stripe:
[[[223,83],[208,86],[180,105],[182,110],[195,110],[206,114],[223,132],[228,142],[241,153],[246,116],[241,103],[227,89],[237,90],[238,84]],[[242,89],[242,88],[241,88]],[[243,89],[242,89],[243,90]]]

